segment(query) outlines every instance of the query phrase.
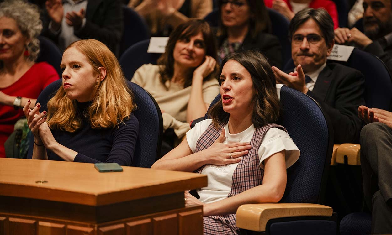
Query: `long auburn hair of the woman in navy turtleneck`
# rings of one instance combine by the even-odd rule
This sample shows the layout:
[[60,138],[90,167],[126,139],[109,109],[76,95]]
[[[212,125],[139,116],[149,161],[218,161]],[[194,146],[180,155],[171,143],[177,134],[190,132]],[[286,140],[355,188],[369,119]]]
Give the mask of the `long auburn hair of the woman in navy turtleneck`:
[[94,129],[118,127],[129,119],[136,106],[116,56],[105,44],[94,39],[73,42],[65,51],[69,48],[75,48],[87,57],[94,74],[99,74],[98,68],[104,67],[106,76],[96,85],[95,96],[84,113],[77,112],[77,101],[69,99],[60,87],[48,101],[47,124],[53,129],[74,132],[82,127],[84,115],[89,117]]

